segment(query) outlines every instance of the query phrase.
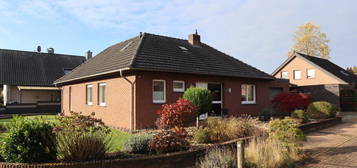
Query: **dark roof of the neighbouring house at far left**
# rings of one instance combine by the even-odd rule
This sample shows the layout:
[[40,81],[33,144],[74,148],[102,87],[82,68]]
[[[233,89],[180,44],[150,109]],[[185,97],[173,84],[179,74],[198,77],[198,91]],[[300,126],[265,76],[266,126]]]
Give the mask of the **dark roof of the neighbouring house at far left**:
[[0,84],[53,86],[85,61],[84,57],[0,49]]

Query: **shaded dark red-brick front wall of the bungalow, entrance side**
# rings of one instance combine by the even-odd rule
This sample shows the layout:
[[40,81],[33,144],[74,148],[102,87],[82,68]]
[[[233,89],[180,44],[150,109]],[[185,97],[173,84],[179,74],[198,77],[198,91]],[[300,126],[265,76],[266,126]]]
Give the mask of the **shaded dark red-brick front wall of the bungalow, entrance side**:
[[[174,80],[185,81],[185,87],[195,86],[196,82],[222,83],[223,108],[228,109],[229,115],[258,115],[259,112],[270,105],[270,87],[281,87],[288,91],[288,81],[270,81],[232,77],[214,77],[204,75],[190,75],[164,72],[140,72],[137,74],[136,95],[136,126],[138,129],[154,126],[158,115],[156,111],[162,104],[153,103],[152,82],[154,79],[166,82],[166,103],[173,103],[182,97],[183,93],[173,92]],[[241,103],[241,85],[254,84],[256,86],[256,104]],[[230,92],[229,92],[230,88]]]

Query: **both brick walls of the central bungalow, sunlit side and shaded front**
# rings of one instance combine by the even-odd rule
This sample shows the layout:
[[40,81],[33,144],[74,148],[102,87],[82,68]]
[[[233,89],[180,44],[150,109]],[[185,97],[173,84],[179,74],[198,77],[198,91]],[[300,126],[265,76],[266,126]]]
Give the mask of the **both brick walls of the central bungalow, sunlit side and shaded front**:
[[[196,82],[222,83],[223,108],[228,109],[229,115],[236,116],[241,114],[258,115],[263,108],[270,104],[270,87],[281,87],[284,91],[288,91],[287,81],[144,71],[136,72],[135,75],[127,78],[134,83],[133,107],[131,107],[132,85],[124,78],[118,77],[62,86],[62,112],[65,115],[69,115],[70,111],[82,112],[85,115],[95,112],[95,116],[101,118],[109,126],[144,129],[155,125],[158,118],[156,112],[163,105],[163,103],[153,103],[152,82],[154,79],[166,81],[166,103],[174,103],[183,95],[183,93],[173,92],[173,80],[185,81],[186,88],[195,86]],[[106,83],[106,106],[98,105],[99,83]],[[93,85],[93,105],[86,104],[86,86],[88,84]],[[241,103],[242,84],[256,86],[256,104]],[[132,110],[133,113],[131,113]],[[133,123],[131,123],[131,115],[134,118]],[[131,124],[133,124],[133,128]]]

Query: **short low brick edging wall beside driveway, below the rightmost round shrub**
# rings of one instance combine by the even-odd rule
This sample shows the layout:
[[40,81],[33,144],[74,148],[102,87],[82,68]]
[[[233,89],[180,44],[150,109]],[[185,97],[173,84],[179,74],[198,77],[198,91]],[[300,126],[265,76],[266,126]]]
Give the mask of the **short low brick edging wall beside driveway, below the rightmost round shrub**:
[[329,119],[315,120],[308,123],[301,124],[299,128],[304,133],[309,133],[317,130],[321,130],[324,128],[332,127],[337,124],[342,123],[342,117],[334,117]]

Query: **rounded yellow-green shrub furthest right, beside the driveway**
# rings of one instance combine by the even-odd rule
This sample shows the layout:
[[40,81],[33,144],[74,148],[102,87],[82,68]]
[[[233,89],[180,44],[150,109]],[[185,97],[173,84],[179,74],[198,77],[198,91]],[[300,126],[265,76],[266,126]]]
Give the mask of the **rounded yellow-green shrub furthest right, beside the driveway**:
[[307,115],[313,119],[324,119],[335,117],[337,107],[329,102],[316,101],[307,108]]

